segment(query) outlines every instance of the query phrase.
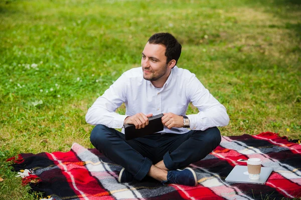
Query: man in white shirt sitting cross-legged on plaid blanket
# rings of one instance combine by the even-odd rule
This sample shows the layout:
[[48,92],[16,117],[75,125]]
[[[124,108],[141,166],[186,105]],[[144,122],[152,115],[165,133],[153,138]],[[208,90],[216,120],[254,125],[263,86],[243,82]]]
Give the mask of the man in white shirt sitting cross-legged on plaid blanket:
[[[91,143],[124,167],[119,182],[148,175],[163,184],[197,185],[193,169],[179,168],[203,159],[221,141],[217,126],[229,123],[226,109],[194,74],[176,66],[181,49],[169,33],[150,37],[142,52],[142,67],[124,72],[86,114],[87,123],[96,125]],[[185,116],[190,102],[199,113]],[[125,115],[115,113],[122,103]],[[124,124],[144,128],[147,117],[160,113],[164,113],[164,130],[158,133],[125,140],[114,129]]]

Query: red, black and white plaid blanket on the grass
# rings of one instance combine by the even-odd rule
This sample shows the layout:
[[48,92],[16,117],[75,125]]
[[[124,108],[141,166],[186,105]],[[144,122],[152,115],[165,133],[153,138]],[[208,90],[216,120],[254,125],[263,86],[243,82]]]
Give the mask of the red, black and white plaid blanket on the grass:
[[[96,149],[74,143],[68,152],[20,154],[8,159],[23,171],[23,183],[51,199],[281,199],[301,197],[301,145],[275,133],[222,137],[207,157],[190,165],[198,178],[195,187],[162,185],[150,177],[119,183],[121,166]],[[225,178],[238,159],[258,157],[273,172],[265,184],[232,183]],[[19,172],[20,173],[20,172]]]

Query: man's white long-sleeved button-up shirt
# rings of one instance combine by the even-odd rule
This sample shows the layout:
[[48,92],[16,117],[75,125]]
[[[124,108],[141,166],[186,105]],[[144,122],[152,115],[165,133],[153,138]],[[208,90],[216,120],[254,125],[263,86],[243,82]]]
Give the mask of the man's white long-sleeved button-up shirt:
[[[197,114],[187,115],[190,129],[206,130],[228,125],[226,108],[209,93],[195,74],[177,66],[172,69],[160,89],[143,78],[141,67],[124,72],[89,108],[86,121],[92,125],[122,128],[127,116],[139,112],[153,115],[172,112],[185,115],[190,102],[199,110]],[[125,115],[115,112],[122,103],[125,103]],[[168,129],[165,126],[161,133],[181,134],[188,131],[187,128]]]

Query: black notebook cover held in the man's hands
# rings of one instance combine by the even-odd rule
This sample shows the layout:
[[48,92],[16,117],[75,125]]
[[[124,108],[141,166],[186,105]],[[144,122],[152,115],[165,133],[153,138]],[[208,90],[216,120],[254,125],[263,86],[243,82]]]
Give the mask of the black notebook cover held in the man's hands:
[[136,129],[135,125],[133,124],[124,124],[125,140],[130,140],[162,131],[164,128],[161,121],[162,117],[163,114],[147,117],[148,125],[140,129]]

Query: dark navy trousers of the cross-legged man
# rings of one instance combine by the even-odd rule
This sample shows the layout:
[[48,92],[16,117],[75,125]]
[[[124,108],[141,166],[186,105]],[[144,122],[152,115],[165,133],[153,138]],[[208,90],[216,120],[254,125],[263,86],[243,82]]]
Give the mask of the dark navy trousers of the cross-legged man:
[[91,132],[90,141],[107,158],[141,180],[150,166],[161,160],[168,169],[174,170],[203,159],[220,144],[221,134],[213,127],[184,134],[155,133],[125,140],[123,133],[97,125]]

